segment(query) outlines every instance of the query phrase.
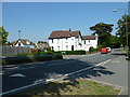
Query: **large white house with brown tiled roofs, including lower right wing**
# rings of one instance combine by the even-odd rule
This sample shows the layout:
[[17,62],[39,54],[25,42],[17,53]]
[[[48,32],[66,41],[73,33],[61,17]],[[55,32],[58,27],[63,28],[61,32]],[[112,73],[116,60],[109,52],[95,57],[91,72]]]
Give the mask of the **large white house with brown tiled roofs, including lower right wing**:
[[80,31],[57,30],[49,37],[49,45],[53,51],[88,51],[90,46],[96,47],[96,36],[81,36]]

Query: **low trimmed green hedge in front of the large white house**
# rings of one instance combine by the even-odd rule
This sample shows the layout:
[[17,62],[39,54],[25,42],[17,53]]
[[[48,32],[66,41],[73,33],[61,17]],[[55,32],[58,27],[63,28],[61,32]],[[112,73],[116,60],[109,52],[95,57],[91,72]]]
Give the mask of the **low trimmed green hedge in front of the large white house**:
[[61,51],[61,52],[55,52],[55,54],[63,54],[63,55],[84,55],[86,51]]

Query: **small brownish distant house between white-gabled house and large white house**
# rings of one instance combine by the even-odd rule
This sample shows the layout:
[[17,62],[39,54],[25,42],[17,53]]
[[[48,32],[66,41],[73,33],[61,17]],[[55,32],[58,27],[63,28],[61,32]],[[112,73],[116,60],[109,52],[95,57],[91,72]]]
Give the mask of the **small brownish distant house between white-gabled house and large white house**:
[[37,44],[36,44],[36,47],[38,50],[41,50],[41,51],[48,51],[49,48],[49,43],[48,42],[43,42],[43,41],[39,41]]

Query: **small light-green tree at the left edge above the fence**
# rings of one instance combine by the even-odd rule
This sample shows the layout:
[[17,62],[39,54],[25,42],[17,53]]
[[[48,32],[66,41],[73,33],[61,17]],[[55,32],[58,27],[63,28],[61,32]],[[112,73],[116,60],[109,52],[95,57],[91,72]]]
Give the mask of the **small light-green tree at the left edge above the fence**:
[[0,27],[0,44],[6,43],[8,36],[9,32],[6,32],[3,27]]

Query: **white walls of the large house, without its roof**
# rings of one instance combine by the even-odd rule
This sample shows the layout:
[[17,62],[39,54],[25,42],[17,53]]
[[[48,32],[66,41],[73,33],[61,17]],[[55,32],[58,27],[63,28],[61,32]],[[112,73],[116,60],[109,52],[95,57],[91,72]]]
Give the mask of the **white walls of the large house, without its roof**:
[[[84,42],[86,41],[86,44]],[[89,51],[90,46],[98,46],[98,37],[95,40],[81,40],[81,37],[70,37],[70,38],[61,38],[61,39],[49,39],[49,45],[53,46],[53,51],[73,51],[72,46],[74,45],[74,51]]]

